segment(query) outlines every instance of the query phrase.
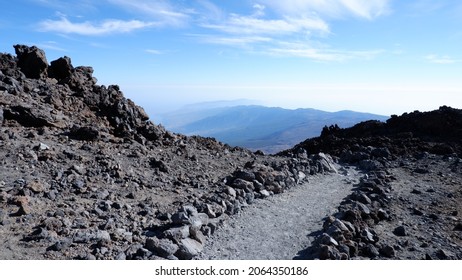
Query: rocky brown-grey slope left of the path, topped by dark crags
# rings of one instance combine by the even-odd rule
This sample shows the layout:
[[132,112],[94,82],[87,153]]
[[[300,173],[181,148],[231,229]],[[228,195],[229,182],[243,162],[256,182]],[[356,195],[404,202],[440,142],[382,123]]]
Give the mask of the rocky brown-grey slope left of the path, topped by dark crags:
[[0,259],[191,259],[221,219],[329,170],[171,133],[91,67],[15,50],[0,53]]

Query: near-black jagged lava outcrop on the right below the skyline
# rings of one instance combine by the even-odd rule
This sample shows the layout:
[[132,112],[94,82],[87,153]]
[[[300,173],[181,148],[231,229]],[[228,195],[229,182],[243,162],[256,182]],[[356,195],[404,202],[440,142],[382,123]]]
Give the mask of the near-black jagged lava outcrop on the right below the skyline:
[[326,126],[320,137],[307,139],[280,153],[294,155],[324,152],[341,162],[360,164],[367,170],[400,156],[432,153],[462,154],[462,110],[442,106],[431,112],[405,113],[386,122],[367,121],[351,128]]

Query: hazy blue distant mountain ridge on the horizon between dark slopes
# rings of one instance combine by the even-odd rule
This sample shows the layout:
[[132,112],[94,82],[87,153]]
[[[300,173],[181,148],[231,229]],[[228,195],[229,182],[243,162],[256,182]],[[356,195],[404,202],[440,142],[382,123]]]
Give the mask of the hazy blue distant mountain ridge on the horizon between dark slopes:
[[214,137],[232,146],[276,153],[318,136],[326,125],[349,127],[371,119],[385,121],[388,117],[347,110],[332,113],[260,105],[194,105],[189,110],[186,107],[185,110],[164,116],[163,125],[186,135]]

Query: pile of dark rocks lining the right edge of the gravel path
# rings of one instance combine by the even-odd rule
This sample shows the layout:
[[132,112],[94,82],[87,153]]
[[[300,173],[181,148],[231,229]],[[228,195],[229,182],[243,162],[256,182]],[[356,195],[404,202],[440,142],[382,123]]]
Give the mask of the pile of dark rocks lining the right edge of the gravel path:
[[339,211],[326,218],[322,234],[305,257],[324,260],[395,257],[394,248],[383,243],[374,230],[380,222],[391,219],[388,209],[392,180],[384,171],[364,176]]

